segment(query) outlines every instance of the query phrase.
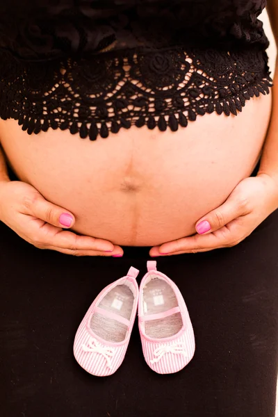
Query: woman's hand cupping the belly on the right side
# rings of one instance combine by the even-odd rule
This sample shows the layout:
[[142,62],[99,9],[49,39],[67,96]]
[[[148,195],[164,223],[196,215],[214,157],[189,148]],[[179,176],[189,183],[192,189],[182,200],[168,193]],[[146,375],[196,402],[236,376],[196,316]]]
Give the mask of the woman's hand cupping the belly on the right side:
[[224,204],[197,221],[197,234],[154,246],[149,254],[177,255],[237,245],[277,208],[278,184],[270,175],[245,178]]

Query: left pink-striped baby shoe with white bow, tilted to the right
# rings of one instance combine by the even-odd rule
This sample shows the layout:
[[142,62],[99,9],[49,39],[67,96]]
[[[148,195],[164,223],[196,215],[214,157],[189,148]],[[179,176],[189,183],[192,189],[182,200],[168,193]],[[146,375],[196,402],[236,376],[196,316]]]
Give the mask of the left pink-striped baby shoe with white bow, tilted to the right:
[[74,338],[74,357],[88,373],[115,373],[126,354],[138,306],[139,270],[106,286],[92,302]]

